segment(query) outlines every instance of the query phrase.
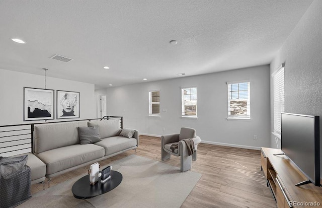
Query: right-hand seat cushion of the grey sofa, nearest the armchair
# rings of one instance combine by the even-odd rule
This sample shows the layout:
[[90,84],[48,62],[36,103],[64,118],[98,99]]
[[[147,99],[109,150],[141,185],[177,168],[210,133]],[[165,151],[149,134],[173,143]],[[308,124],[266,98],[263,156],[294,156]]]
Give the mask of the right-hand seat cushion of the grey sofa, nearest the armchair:
[[112,136],[103,138],[101,142],[95,143],[105,149],[105,156],[117,153],[128,148],[136,146],[135,138],[126,138],[123,136]]

